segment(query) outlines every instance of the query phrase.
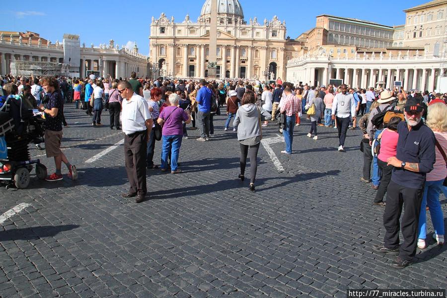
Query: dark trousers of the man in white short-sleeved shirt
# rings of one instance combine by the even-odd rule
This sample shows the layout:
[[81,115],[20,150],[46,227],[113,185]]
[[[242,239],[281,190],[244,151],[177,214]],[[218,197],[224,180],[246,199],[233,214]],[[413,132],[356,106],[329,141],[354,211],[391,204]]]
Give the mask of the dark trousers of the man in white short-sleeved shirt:
[[124,155],[126,171],[130,183],[130,194],[145,195],[146,188],[146,151],[147,131],[137,132],[124,137]]

